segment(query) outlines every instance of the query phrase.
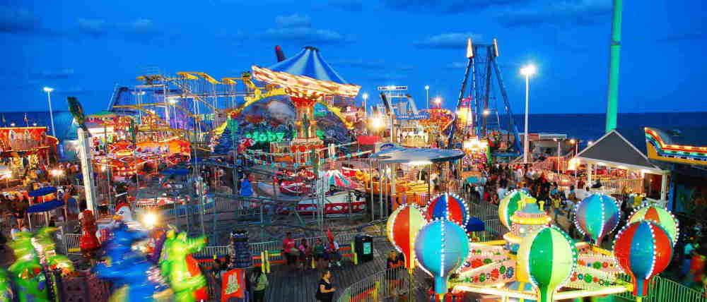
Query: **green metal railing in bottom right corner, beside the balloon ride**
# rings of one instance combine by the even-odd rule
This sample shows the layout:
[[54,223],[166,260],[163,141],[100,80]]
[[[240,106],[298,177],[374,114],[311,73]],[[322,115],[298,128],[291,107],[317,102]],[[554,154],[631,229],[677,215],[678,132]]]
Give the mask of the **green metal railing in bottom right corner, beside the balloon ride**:
[[[620,279],[626,282],[631,281],[631,277],[621,274]],[[614,294],[626,301],[639,301],[631,291],[621,294]],[[648,283],[648,294],[643,296],[642,302],[707,302],[705,293],[696,291],[687,286],[674,282],[670,279],[655,276]]]

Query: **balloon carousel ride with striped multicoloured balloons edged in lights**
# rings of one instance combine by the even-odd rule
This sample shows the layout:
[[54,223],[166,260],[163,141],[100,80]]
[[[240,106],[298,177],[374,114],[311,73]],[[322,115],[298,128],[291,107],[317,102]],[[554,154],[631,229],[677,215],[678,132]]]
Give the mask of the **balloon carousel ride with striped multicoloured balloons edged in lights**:
[[[501,241],[474,243],[457,234],[467,224],[465,210],[460,198],[440,195],[423,210],[399,207],[388,220],[388,238],[435,278],[440,298],[448,289],[450,298],[470,291],[503,301],[542,302],[631,291],[641,301],[650,279],[670,263],[678,236],[670,212],[645,206],[618,232],[613,251],[600,248],[620,218],[616,200],[602,194],[590,195],[575,208],[575,224],[592,243],[574,241],[553,226],[543,203],[522,191],[509,193],[498,207],[501,223],[510,229]],[[433,241],[441,242],[441,250]],[[466,244],[452,246],[456,241]]]

